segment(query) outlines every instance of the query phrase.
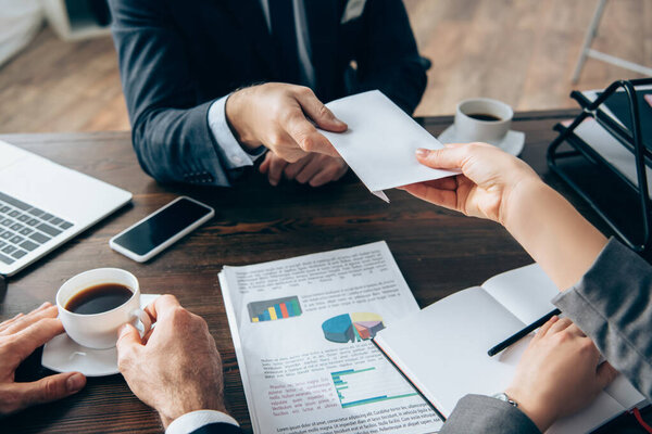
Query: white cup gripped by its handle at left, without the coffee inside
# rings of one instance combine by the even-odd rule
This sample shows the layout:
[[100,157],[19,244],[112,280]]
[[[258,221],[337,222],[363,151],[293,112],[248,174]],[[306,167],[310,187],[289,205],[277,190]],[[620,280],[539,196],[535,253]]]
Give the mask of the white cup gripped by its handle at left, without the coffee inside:
[[[74,295],[102,283],[117,283],[127,286],[134,294],[118,307],[100,314],[75,314],[65,308]],[[57,307],[67,335],[88,348],[114,347],[117,341],[117,331],[127,322],[137,327],[140,320],[143,333],[151,329],[149,315],[140,309],[138,279],[120,268],[97,268],[68,279],[57,293]]]

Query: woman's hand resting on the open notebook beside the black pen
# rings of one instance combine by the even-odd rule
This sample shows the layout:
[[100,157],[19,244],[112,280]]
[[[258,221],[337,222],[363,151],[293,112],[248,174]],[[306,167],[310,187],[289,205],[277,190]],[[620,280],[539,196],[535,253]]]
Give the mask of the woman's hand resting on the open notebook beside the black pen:
[[523,354],[507,396],[544,432],[587,407],[617,375],[569,319],[553,317]]

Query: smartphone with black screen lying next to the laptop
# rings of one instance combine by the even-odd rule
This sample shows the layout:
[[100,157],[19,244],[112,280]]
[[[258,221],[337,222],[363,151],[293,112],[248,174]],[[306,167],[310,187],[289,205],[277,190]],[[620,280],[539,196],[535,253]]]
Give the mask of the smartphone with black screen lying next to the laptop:
[[113,237],[109,245],[130,259],[145,263],[214,215],[209,205],[180,196]]

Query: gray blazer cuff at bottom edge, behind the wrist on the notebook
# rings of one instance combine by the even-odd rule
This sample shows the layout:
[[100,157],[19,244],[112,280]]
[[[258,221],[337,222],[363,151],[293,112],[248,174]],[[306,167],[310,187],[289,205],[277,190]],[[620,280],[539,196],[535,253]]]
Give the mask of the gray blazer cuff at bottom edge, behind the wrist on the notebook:
[[541,434],[518,408],[482,395],[466,395],[460,399],[439,433]]

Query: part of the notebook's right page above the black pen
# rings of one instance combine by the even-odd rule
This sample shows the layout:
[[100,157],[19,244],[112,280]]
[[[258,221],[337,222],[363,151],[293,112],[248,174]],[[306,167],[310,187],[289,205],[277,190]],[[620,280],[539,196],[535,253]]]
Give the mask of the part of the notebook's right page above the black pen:
[[553,310],[550,301],[560,293],[538,264],[494,276],[482,288],[525,324]]

